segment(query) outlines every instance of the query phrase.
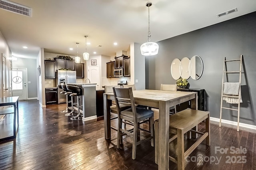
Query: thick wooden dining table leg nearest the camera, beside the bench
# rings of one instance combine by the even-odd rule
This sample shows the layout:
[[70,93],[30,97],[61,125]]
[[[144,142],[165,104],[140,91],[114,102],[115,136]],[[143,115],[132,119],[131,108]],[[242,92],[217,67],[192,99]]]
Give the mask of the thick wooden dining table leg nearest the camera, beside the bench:
[[158,170],[169,169],[169,106],[159,102]]

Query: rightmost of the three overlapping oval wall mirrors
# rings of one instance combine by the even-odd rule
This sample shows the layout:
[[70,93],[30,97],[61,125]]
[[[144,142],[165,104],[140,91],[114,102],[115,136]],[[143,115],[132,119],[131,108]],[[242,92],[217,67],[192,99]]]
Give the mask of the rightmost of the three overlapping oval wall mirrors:
[[192,79],[198,80],[203,73],[203,61],[199,56],[193,56],[189,63],[189,74]]

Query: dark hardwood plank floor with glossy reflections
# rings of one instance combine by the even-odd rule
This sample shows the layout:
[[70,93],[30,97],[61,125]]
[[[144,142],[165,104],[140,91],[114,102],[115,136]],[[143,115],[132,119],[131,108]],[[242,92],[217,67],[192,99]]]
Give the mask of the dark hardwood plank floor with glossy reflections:
[[[19,102],[20,125],[14,141],[0,144],[1,170],[157,170],[150,141],[137,146],[132,160],[132,138],[124,137],[123,149],[104,138],[104,121],[71,121],[61,113],[65,104],[40,108],[37,100]],[[6,115],[0,135],[12,127],[13,115]],[[204,124],[198,128],[204,130]],[[147,125],[145,125],[147,126]],[[204,142],[187,158],[186,170],[256,170],[256,132],[211,123],[211,146]],[[12,132],[12,130],[11,130]],[[148,135],[141,132],[140,138]],[[116,132],[112,131],[112,137]],[[113,141],[116,143],[116,140]],[[188,144],[190,142],[188,141]],[[171,144],[175,148],[175,144]],[[232,153],[232,148],[246,153]],[[227,153],[220,151],[227,148]],[[231,150],[230,150],[231,149]],[[209,158],[209,159],[208,159]],[[240,159],[241,158],[241,159]],[[220,160],[219,162],[217,161]],[[212,160],[210,162],[209,160]],[[242,163],[245,162],[246,163]],[[229,163],[230,162],[230,163]],[[170,170],[176,170],[170,162]]]

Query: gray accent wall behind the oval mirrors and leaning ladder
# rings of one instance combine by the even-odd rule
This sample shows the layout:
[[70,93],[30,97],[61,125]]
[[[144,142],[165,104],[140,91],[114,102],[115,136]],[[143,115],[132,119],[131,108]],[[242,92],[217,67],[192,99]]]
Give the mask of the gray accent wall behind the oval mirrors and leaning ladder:
[[[205,89],[208,94],[210,116],[220,118],[224,57],[227,60],[239,59],[242,54],[244,56],[241,83],[243,103],[240,105],[240,122],[256,125],[255,23],[256,12],[252,12],[158,42],[159,53],[156,56],[146,57],[146,89],[159,90],[160,84],[175,84],[176,80],[170,73],[172,60],[198,55],[203,60],[204,71],[199,80],[188,79],[190,88]],[[229,64],[228,70],[239,70],[239,64]],[[228,78],[229,82],[239,82],[238,74]],[[226,107],[237,108],[237,104],[225,104],[225,101],[223,103]],[[236,122],[237,111],[223,110],[222,119]]]

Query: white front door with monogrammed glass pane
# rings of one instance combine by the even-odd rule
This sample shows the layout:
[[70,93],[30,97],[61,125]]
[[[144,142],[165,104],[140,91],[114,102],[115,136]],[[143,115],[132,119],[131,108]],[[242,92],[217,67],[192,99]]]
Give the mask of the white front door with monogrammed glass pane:
[[12,96],[19,96],[19,100],[26,100],[27,90],[27,69],[12,68]]

